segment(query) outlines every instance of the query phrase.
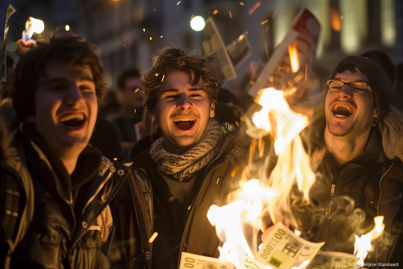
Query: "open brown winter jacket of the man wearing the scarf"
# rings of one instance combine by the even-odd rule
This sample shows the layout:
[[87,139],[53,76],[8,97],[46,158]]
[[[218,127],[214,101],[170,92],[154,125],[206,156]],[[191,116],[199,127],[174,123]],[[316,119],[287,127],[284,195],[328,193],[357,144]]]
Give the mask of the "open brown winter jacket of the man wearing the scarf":
[[[162,185],[165,185],[166,191],[168,187],[160,178],[156,164],[151,159],[150,148],[140,153],[134,152],[141,150],[144,144],[150,145],[150,138],[144,138],[135,145],[128,158],[130,162],[126,163],[131,166],[129,180],[116,196],[119,224],[114,239],[124,253],[122,263],[116,268],[177,268],[183,251],[219,256],[217,247],[220,241],[215,227],[207,219],[207,211],[212,204],[224,205],[226,195],[239,188],[239,177],[234,176],[234,172],[237,169],[242,170],[239,169],[240,164],[246,156],[237,142],[236,132],[237,130],[229,131],[224,135],[218,156],[197,173],[193,197],[183,205],[179,202],[175,205],[177,201],[174,200],[170,201],[172,205],[166,206],[167,210],[176,214],[176,217],[165,218],[169,219],[168,223],[157,223],[161,214],[170,214],[161,210],[163,197],[160,195],[164,195]],[[168,200],[165,203],[168,204]],[[156,204],[161,211],[158,214],[154,212]],[[177,240],[172,248],[163,250],[160,246],[154,252],[153,245],[148,240],[154,234],[156,225],[159,229],[161,225],[172,228],[172,240]],[[162,264],[157,260],[163,260],[164,255],[177,261],[161,267]]]

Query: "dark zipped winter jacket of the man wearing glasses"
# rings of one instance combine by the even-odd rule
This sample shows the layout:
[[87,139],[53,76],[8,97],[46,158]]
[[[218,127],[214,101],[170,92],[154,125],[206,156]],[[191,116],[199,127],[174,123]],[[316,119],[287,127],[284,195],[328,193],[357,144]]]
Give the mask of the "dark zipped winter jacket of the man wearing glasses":
[[[301,137],[307,143],[308,150],[326,149],[323,138],[325,126],[324,113],[321,113],[303,131]],[[295,197],[290,199],[290,207],[299,223],[299,229],[307,239],[312,242],[325,241],[324,250],[352,254],[354,234],[366,234],[374,227],[374,217],[384,216],[385,230],[376,244],[373,244],[376,246],[365,261],[401,261],[401,131],[403,119],[397,110],[392,109],[379,127],[372,128],[366,149],[353,160],[337,165],[332,156],[325,153],[316,173],[316,181],[310,190],[312,204],[303,206],[299,205]]]

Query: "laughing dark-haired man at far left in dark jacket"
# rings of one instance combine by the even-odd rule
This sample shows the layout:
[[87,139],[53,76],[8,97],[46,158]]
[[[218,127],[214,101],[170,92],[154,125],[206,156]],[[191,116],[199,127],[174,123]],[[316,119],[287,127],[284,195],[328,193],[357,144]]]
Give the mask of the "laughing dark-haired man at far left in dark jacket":
[[17,43],[12,103],[0,107],[0,264],[107,268],[109,203],[127,167],[88,143],[104,74],[83,39],[46,39]]

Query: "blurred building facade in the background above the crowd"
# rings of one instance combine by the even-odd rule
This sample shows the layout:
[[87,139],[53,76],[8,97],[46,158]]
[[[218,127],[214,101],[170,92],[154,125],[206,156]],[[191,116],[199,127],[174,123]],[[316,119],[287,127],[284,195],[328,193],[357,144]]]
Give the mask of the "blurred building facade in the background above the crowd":
[[[19,38],[28,16],[61,31],[69,25],[71,32],[96,44],[112,88],[116,88],[117,76],[124,69],[147,71],[158,48],[172,45],[202,53],[203,31],[193,31],[189,24],[197,15],[214,18],[225,44],[247,32],[252,54],[237,70],[239,76],[247,72],[251,62],[266,62],[267,54],[270,56],[283,40],[301,7],[310,9],[321,23],[317,57],[325,67],[332,68],[345,55],[371,49],[384,50],[395,64],[403,61],[403,1],[399,0],[14,2],[17,13],[13,16],[18,18],[12,23],[18,31],[10,28],[9,38],[10,34],[11,39]],[[258,7],[251,12],[253,6]]]

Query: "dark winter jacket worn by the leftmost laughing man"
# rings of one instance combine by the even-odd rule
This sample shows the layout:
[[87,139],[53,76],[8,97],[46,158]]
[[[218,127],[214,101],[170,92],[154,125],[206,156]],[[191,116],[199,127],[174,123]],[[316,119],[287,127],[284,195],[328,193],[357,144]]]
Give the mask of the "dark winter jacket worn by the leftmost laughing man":
[[69,176],[32,123],[9,132],[2,121],[0,142],[1,267],[103,268],[127,167],[88,146]]

